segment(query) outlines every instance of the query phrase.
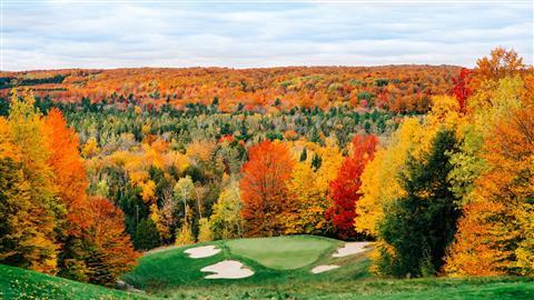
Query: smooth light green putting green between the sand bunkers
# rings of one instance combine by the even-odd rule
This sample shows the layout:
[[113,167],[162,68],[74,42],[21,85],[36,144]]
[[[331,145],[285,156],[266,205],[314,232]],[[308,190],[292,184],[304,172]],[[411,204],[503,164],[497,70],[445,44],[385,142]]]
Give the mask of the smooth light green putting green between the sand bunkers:
[[227,241],[235,256],[253,259],[277,270],[293,270],[314,263],[336,247],[334,241],[310,237],[276,237]]

